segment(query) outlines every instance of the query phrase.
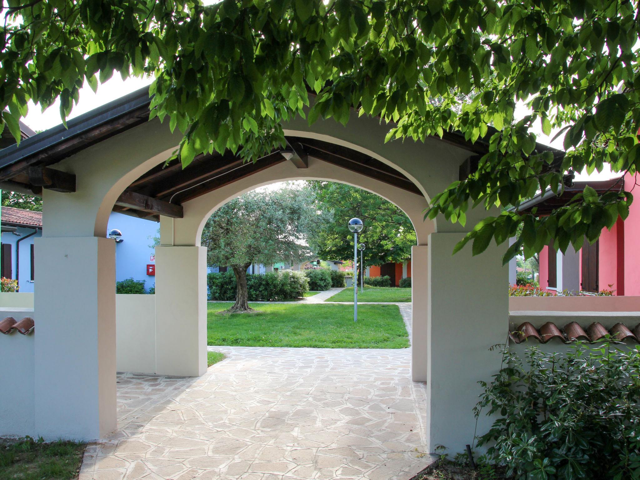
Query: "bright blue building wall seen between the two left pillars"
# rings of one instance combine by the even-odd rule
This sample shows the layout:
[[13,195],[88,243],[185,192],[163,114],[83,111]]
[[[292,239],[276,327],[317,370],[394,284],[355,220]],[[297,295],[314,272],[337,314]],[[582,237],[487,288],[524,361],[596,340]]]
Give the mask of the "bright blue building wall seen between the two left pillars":
[[151,260],[155,251],[150,245],[152,237],[159,236],[159,227],[156,221],[111,212],[107,229],[120,230],[123,240],[116,243],[116,282],[133,278],[145,280],[147,290],[156,286],[156,277],[147,275],[147,264],[156,263]]

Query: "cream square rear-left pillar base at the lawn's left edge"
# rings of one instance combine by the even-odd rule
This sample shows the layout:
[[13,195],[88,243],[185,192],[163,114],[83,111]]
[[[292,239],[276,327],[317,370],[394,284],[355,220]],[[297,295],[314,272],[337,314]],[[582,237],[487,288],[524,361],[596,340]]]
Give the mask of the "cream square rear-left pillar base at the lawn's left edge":
[[207,249],[156,247],[156,373],[207,371]]

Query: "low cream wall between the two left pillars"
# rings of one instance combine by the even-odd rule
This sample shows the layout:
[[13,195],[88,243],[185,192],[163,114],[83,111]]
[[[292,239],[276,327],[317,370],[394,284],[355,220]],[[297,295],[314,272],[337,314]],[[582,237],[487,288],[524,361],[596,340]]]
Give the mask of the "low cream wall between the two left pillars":
[[155,295],[116,295],[116,370],[156,372]]

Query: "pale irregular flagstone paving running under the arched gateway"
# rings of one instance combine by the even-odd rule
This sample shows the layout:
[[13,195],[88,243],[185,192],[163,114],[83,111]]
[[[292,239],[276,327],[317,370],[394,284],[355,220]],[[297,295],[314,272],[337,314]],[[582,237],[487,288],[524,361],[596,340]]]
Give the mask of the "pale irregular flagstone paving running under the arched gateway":
[[431,462],[410,349],[209,349],[227,358],[200,378],[118,374],[118,429],[79,480],[406,480]]

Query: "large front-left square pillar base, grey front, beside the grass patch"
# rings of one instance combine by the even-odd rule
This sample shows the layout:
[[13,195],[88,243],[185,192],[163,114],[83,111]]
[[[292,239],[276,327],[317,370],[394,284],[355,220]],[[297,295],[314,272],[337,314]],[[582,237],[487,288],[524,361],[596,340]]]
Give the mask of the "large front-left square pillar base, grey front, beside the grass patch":
[[35,426],[45,440],[116,428],[115,241],[35,239]]

